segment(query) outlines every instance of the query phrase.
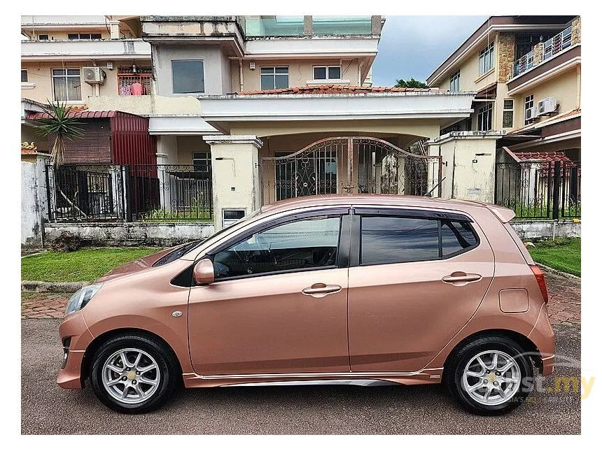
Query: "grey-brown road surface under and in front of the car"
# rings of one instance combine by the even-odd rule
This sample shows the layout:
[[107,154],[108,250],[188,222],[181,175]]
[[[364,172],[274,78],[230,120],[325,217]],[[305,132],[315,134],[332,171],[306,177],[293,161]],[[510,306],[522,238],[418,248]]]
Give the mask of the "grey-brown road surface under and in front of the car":
[[[580,394],[543,392],[500,418],[458,408],[430,386],[232,387],[184,390],[154,413],[120,415],[88,386],[56,385],[59,320],[22,320],[22,434],[579,434]],[[556,353],[580,358],[580,324],[559,324]],[[556,376],[580,368],[557,368]],[[130,421],[132,420],[132,421]]]

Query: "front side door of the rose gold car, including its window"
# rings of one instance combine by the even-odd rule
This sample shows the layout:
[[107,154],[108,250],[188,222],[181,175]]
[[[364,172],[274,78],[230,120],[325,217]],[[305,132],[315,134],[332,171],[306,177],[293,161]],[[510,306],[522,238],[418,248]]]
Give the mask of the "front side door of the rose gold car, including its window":
[[281,218],[210,252],[216,280],[188,306],[196,373],[350,371],[348,212]]

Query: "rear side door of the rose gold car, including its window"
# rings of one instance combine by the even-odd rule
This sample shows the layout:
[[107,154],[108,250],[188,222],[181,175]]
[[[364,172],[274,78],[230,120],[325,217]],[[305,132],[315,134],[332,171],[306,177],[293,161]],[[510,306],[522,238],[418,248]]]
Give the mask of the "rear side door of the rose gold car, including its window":
[[419,371],[477,310],[493,277],[493,252],[465,215],[367,208],[356,213],[349,269],[351,371]]

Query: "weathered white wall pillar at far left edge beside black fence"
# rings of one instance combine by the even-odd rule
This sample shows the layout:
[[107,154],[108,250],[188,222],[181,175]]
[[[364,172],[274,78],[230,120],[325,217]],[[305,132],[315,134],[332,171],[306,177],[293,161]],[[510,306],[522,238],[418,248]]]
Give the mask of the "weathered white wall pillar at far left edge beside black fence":
[[46,165],[50,155],[21,154],[21,247],[43,246],[43,223],[48,221]]

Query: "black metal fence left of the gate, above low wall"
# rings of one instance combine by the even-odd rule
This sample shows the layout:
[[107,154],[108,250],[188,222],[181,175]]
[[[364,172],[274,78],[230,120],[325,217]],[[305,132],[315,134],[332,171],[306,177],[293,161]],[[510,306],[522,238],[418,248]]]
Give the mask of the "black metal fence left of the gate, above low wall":
[[193,165],[46,166],[51,222],[213,220],[211,173]]

